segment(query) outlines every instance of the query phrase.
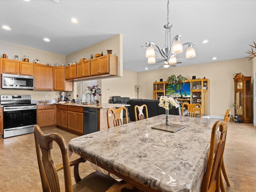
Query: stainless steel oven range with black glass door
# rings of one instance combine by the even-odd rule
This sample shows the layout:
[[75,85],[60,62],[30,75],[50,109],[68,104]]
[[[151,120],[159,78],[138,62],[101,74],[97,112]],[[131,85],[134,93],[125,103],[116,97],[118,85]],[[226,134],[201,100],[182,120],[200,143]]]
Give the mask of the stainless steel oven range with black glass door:
[[31,104],[30,95],[1,95],[4,106],[3,138],[33,132],[36,124],[36,104]]

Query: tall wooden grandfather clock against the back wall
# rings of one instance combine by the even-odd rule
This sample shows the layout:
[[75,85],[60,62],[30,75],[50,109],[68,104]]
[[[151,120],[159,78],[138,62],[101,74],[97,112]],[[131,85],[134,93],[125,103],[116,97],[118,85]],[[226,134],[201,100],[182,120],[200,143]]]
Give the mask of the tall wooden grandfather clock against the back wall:
[[234,76],[235,84],[235,115],[243,123],[251,123],[251,77],[245,77],[242,73]]

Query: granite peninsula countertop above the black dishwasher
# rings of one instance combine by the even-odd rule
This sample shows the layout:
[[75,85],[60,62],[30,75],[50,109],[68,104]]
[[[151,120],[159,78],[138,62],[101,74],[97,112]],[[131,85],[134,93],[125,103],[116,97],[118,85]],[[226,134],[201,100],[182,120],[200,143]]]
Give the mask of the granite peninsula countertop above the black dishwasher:
[[78,107],[98,108],[98,109],[130,106],[128,104],[112,104],[112,103],[83,104],[83,103],[66,102],[66,103],[56,103],[56,104],[68,105],[68,106],[78,106]]

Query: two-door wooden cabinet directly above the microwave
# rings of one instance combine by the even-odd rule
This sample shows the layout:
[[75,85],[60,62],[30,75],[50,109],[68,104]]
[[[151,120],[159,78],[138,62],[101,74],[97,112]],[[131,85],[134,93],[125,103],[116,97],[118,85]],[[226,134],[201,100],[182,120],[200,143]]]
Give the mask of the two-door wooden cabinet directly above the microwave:
[[3,73],[18,75],[34,75],[34,63],[3,59]]

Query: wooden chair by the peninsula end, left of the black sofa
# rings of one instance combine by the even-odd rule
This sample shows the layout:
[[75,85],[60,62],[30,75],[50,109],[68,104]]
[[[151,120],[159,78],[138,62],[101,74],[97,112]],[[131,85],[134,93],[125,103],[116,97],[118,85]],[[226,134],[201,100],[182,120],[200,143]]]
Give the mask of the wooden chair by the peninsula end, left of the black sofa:
[[108,108],[108,110],[107,110],[108,128],[110,128],[112,126],[112,124],[110,123],[110,120],[113,119],[113,118],[111,118],[109,116],[110,111],[114,115],[114,119],[113,119],[114,127],[123,124],[123,113],[122,113],[122,110],[125,111],[125,120],[126,120],[126,123],[128,123],[128,114],[127,114],[126,107]]

